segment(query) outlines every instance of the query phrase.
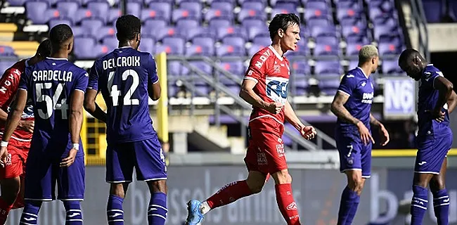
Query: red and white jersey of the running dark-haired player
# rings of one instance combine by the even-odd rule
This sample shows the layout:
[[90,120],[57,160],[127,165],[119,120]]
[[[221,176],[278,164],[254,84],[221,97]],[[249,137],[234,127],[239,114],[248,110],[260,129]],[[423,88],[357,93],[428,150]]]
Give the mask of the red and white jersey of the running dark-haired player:
[[[263,101],[267,103],[278,102],[284,105],[288,96],[289,75],[289,60],[280,56],[272,46],[268,46],[252,56],[245,79],[252,79],[257,82],[253,91]],[[253,107],[249,122],[251,126],[253,125],[252,122],[256,120],[271,119],[284,124],[284,108],[280,113],[272,114],[262,108]],[[262,125],[259,127],[259,125],[256,122],[254,127],[269,129]]]

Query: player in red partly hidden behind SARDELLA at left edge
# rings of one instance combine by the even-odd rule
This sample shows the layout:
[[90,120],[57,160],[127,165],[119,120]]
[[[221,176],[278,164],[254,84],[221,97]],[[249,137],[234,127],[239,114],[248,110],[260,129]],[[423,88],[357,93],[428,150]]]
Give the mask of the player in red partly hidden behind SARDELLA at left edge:
[[[18,91],[20,76],[29,65],[44,60],[51,54],[51,41],[45,40],[38,46],[32,58],[20,60],[4,72],[0,79],[0,136],[4,134],[5,122],[8,117],[9,105]],[[33,108],[27,106],[22,113],[18,129],[15,129],[8,145],[6,165],[0,167],[0,224],[5,224],[11,209],[24,207],[25,162],[32,141],[34,128]],[[1,138],[0,138],[1,139]]]

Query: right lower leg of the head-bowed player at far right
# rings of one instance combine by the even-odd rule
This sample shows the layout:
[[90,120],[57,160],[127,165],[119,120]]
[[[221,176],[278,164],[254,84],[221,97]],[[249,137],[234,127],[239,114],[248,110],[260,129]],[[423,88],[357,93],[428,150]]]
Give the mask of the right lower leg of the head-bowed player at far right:
[[445,185],[446,166],[447,158],[444,158],[439,174],[433,175],[430,180],[430,191],[433,194],[433,207],[438,225],[449,224],[449,194]]

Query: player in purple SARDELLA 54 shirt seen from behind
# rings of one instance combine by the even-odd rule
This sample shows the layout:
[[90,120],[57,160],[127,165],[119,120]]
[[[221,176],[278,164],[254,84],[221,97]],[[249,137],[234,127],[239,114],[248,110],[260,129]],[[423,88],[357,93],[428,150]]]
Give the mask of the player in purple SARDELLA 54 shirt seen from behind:
[[35,115],[34,134],[25,167],[25,208],[20,224],[37,224],[43,201],[59,200],[66,211],[65,224],[82,224],[79,205],[84,200],[84,151],[79,133],[82,103],[89,75],[68,62],[73,32],[56,25],[49,32],[52,51],[45,60],[25,68],[18,93],[6,121],[0,148],[5,162],[6,146],[18,125],[27,101]]

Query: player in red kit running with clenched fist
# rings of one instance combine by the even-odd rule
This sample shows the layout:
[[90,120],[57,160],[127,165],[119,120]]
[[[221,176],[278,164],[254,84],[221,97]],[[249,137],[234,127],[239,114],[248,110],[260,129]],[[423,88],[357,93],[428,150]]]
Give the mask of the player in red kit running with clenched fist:
[[200,223],[203,215],[216,207],[259,193],[270,174],[276,184],[276,201],[285,221],[300,225],[281,139],[285,120],[300,131],[304,139],[313,139],[316,135],[314,127],[300,122],[287,101],[290,69],[283,54],[297,48],[300,20],[293,13],[275,15],[269,32],[272,44],[252,57],[240,90],[240,97],[252,105],[249,146],[245,156],[249,171],[247,179],[227,184],[202,203],[189,201],[188,225]]

